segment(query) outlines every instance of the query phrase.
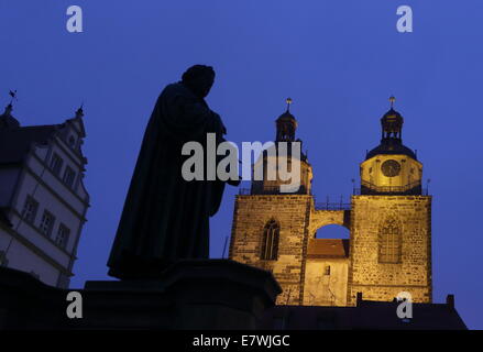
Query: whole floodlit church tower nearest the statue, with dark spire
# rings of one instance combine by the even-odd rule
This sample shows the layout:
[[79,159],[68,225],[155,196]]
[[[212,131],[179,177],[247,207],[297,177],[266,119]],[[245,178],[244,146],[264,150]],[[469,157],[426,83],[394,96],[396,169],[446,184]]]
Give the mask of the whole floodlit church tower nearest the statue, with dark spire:
[[[262,172],[263,178],[254,178],[251,189],[241,189],[235,197],[230,258],[271,271],[283,288],[277,304],[300,305],[305,248],[314,205],[312,170],[307,155],[293,153],[292,143],[301,142],[295,139],[297,120],[289,111],[290,103],[287,99],[286,111],[275,121],[275,143],[268,148],[272,153],[265,150],[255,162],[254,173]],[[284,147],[287,153],[283,153]],[[292,191],[283,191],[282,186],[288,182],[281,179],[278,173],[273,179],[267,174],[271,167],[278,170],[281,163],[287,163],[290,169],[295,157],[299,158],[300,185]]]

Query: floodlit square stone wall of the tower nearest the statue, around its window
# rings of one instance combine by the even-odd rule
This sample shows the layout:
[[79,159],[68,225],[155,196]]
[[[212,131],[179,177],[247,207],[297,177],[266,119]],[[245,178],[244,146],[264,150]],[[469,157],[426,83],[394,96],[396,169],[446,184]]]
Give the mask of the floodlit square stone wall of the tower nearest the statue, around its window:
[[[283,293],[278,305],[300,305],[303,300],[305,251],[312,197],[308,195],[237,196],[230,258],[272,271]],[[278,258],[261,260],[265,224],[279,224]]]

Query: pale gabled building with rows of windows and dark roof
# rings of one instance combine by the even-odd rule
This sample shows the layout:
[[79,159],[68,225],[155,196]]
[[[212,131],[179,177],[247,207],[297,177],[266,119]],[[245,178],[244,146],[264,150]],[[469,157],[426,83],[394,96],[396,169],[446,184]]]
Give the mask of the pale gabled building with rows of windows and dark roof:
[[86,222],[83,109],[59,124],[0,116],[0,266],[66,288]]

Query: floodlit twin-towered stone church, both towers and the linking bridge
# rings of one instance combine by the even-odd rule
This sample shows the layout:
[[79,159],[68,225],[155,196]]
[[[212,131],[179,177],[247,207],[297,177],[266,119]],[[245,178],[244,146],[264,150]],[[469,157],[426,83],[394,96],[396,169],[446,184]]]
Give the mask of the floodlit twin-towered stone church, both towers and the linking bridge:
[[[297,194],[281,194],[272,180],[235,197],[230,258],[271,271],[283,288],[277,305],[354,306],[358,293],[392,301],[400,292],[431,302],[431,196],[421,188],[422,164],[402,143],[403,122],[393,108],[381,119],[381,144],[361,163],[350,205],[315,204],[304,154],[308,176]],[[276,127],[275,144],[295,141],[288,108]],[[316,239],[328,224],[349,229],[350,239]]]

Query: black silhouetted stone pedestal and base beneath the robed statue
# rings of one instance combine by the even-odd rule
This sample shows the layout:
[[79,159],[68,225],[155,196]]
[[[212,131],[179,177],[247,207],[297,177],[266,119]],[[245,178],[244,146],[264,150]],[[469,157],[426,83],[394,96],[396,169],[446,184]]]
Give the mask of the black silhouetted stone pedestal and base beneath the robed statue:
[[[67,294],[83,318],[66,315]],[[0,268],[0,329],[256,329],[281,288],[270,272],[230,260],[180,261],[156,280],[57,289]]]

